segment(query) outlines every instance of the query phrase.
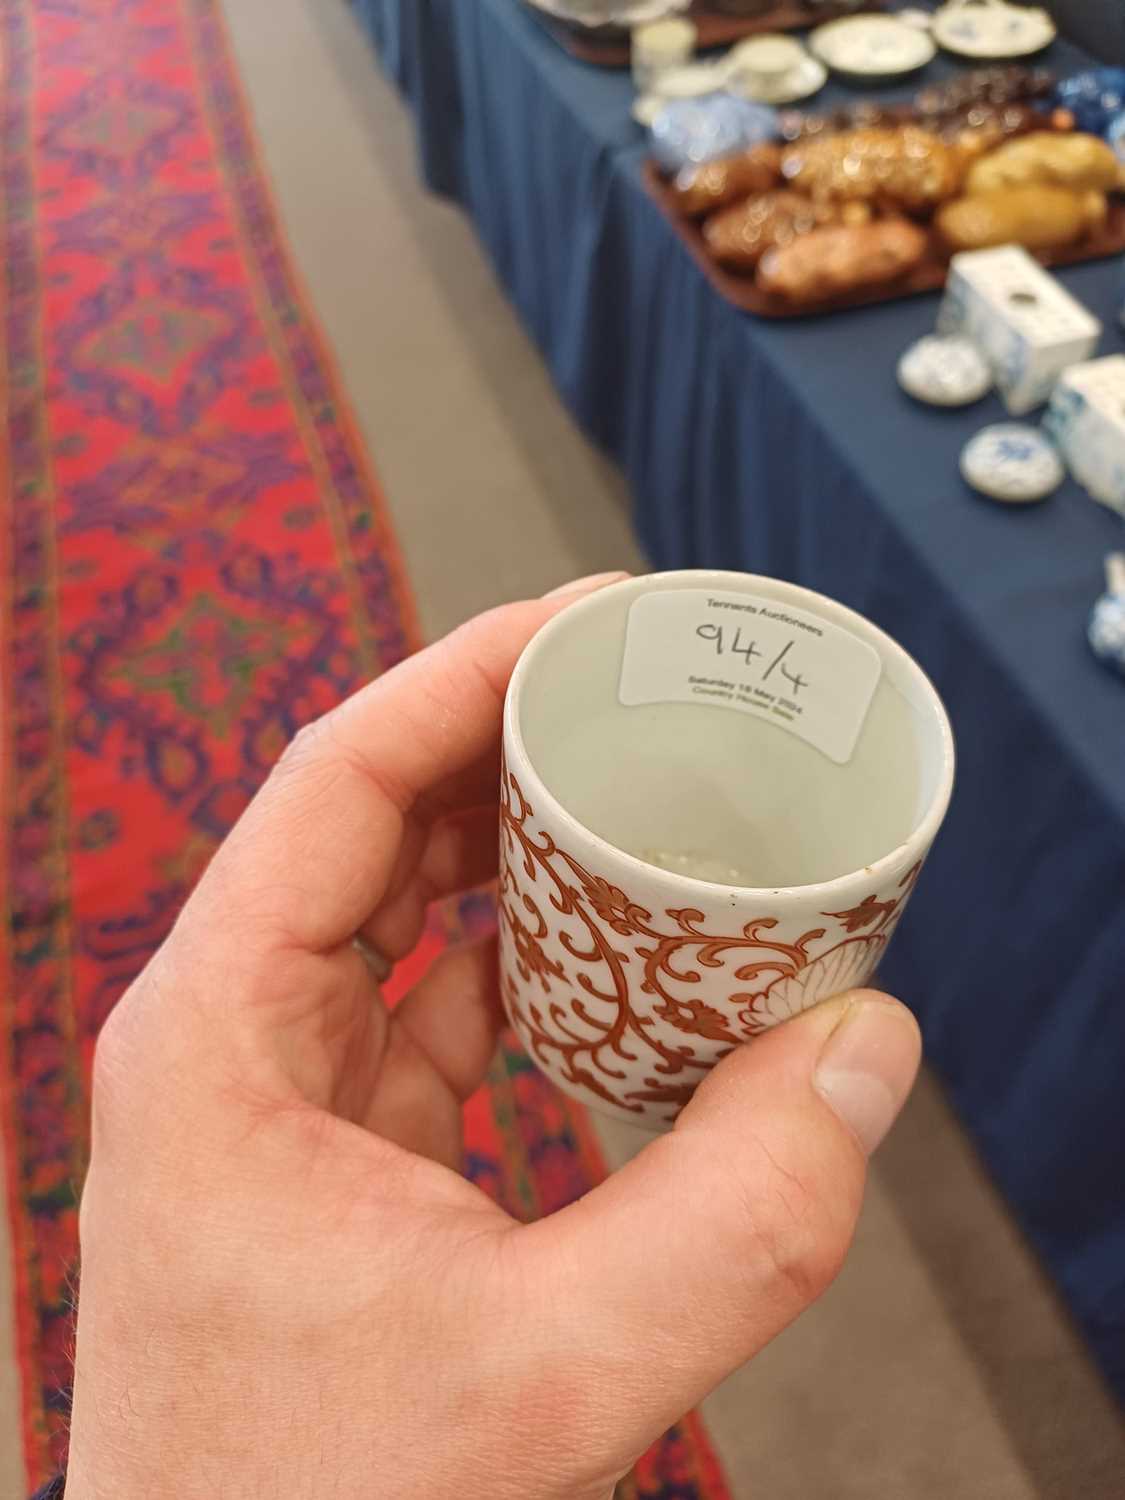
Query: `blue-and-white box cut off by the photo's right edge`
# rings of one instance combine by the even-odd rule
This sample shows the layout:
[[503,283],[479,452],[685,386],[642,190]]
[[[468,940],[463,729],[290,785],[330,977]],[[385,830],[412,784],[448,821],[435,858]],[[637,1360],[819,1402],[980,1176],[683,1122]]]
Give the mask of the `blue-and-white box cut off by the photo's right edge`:
[[1083,489],[1125,516],[1125,354],[1068,369],[1044,428]]

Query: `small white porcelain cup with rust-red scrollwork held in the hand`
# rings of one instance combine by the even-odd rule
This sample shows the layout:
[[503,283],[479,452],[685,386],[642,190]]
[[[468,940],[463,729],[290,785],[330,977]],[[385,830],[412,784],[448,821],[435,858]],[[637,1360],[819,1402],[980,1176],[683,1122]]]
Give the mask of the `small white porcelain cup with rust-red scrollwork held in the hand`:
[[504,708],[501,988],[538,1066],[656,1128],[876,969],[952,732],[890,636],[746,573],[657,573],[530,642]]

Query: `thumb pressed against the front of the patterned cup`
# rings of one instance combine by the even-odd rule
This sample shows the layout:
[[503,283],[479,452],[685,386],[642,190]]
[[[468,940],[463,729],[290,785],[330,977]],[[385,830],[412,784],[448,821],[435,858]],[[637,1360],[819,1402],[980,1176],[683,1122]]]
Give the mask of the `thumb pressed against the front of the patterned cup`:
[[646,1444],[830,1286],[920,1054],[897,1000],[819,1005],[726,1058],[674,1131],[526,1232],[556,1292],[550,1347],[600,1386],[608,1440]]

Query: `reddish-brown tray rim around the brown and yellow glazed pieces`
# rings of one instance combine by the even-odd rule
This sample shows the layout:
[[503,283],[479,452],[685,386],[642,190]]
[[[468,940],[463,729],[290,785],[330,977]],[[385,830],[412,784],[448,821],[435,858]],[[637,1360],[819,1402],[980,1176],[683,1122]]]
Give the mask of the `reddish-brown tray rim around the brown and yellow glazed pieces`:
[[[900,276],[898,280],[885,282],[882,286],[864,286],[843,297],[830,297],[824,302],[795,306],[784,297],[762,291],[753,278],[726,270],[726,267],[712,258],[702,228],[694,219],[688,219],[680,212],[656,162],[645,162],[645,186],[716,291],[726,297],[728,302],[732,302],[735,308],[753,312],[759,318],[808,318],[825,312],[848,312],[852,308],[867,308],[876,302],[897,302],[900,297],[916,297],[920,292],[940,291],[945,285],[950,266],[948,254],[938,243],[938,237],[933,236],[926,260],[915,266],[906,276]],[[1125,201],[1110,198],[1108,219],[1096,234],[1064,250],[1040,250],[1035,254],[1035,258],[1048,267],[1078,266],[1083,261],[1108,260],[1112,255],[1120,255],[1122,250],[1125,250]]]

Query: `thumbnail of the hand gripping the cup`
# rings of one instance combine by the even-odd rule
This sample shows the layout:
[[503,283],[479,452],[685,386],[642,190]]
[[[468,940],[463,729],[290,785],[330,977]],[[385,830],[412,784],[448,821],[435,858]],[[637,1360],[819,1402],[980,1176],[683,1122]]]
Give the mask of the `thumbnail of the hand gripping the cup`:
[[816,1064],[818,1094],[870,1156],[910,1092],[921,1058],[918,1023],[891,1000],[858,1000],[831,1034]]

